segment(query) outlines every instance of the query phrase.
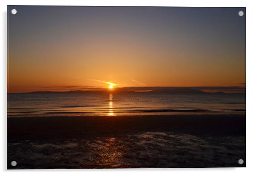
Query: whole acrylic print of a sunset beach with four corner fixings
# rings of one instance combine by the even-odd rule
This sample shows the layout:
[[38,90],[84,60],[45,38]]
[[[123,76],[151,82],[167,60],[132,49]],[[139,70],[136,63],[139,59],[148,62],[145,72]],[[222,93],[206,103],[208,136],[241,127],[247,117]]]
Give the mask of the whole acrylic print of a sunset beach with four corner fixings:
[[7,169],[245,167],[245,8],[7,9]]

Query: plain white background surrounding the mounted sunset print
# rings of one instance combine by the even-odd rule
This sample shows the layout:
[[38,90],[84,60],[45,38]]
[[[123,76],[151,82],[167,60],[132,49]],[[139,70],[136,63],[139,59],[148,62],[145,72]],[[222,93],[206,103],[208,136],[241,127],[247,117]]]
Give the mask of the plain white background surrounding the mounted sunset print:
[[[1,78],[1,135],[0,135],[0,170],[4,173],[18,172],[21,175],[34,174],[54,174],[61,172],[69,175],[71,172],[84,173],[105,173],[106,175],[146,172],[148,175],[155,173],[170,174],[180,173],[191,175],[216,175],[216,173],[241,175],[242,173],[253,174],[256,172],[255,166],[255,134],[256,115],[253,110],[256,97],[256,6],[253,0],[1,0],[1,46],[2,58],[0,62]],[[7,5],[47,5],[47,6],[191,6],[191,7],[246,7],[246,168],[173,168],[173,169],[61,169],[61,170],[6,170],[6,6]]]

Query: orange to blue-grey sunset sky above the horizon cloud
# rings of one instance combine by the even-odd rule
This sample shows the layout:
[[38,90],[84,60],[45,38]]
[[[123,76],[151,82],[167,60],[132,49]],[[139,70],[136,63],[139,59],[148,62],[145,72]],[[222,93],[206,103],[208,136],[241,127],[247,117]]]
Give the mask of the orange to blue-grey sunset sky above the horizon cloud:
[[9,6],[8,92],[105,82],[245,86],[239,11],[245,8]]

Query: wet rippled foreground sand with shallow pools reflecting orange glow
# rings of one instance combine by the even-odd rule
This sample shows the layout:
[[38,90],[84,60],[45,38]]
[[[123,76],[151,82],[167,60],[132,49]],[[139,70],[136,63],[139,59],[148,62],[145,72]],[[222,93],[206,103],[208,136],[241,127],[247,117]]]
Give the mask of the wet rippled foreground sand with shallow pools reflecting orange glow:
[[7,144],[8,169],[245,167],[245,136],[131,132],[115,136]]

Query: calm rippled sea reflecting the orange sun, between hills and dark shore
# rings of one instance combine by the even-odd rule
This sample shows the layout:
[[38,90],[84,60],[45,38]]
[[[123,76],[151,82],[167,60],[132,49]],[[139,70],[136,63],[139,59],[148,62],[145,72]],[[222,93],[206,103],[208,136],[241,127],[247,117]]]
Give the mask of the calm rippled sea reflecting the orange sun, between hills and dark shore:
[[245,114],[245,94],[7,94],[7,116]]

